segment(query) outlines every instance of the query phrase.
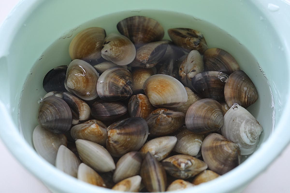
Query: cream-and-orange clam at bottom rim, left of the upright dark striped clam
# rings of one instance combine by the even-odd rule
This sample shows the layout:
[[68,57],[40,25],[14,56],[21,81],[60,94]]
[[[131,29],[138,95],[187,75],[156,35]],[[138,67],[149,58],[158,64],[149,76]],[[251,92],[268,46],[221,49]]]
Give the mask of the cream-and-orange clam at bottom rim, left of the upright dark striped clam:
[[141,184],[141,176],[133,176],[127,179],[124,179],[114,185],[112,190],[118,190],[122,192],[138,192]]

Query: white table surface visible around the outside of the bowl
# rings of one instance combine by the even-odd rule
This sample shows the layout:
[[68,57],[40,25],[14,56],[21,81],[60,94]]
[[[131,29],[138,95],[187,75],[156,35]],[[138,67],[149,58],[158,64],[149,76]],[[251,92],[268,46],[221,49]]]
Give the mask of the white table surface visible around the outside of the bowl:
[[[0,0],[0,23],[18,0]],[[0,38],[1,41],[1,38]],[[0,139],[0,192],[50,193],[50,191],[10,154]],[[290,146],[243,193],[290,192]]]

